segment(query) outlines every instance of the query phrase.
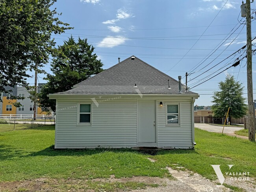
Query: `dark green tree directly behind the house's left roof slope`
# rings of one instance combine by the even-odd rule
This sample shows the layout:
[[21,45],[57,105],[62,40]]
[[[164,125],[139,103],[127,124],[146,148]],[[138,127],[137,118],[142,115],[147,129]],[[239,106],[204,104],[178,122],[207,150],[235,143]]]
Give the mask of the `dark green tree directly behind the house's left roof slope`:
[[103,71],[103,64],[93,50],[87,39],[78,38],[78,42],[75,42],[72,36],[56,48],[51,64],[53,74],[47,74],[45,78],[48,82],[39,94],[39,106],[51,107],[55,111],[56,101],[49,100],[47,94],[69,90],[73,85]]

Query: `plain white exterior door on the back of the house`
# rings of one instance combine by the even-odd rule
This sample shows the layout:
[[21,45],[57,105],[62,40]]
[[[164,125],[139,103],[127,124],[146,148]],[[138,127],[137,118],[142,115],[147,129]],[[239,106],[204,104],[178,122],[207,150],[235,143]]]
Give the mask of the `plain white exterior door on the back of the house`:
[[138,146],[156,147],[156,101],[138,102]]

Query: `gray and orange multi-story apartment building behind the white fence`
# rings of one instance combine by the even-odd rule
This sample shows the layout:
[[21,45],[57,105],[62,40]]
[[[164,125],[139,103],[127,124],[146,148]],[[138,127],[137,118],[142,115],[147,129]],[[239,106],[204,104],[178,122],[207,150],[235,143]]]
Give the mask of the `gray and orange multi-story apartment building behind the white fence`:
[[[45,83],[39,83],[37,92],[41,91],[41,87]],[[36,114],[46,114],[45,109],[41,107],[34,107],[34,103],[30,100],[30,93],[25,87],[5,87],[6,90],[12,90],[9,93],[2,93],[2,102],[0,103],[0,114],[33,114],[36,110]],[[23,100],[12,100],[11,96],[25,97]],[[15,107],[13,103],[20,102],[20,107]]]

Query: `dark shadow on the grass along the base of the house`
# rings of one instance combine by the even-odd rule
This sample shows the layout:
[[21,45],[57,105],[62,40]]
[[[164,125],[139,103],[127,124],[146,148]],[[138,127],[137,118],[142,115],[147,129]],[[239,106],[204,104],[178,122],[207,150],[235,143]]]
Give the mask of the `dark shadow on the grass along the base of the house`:
[[130,148],[122,149],[113,149],[113,148],[96,148],[96,149],[54,149],[54,145],[45,148],[44,150],[31,153],[28,156],[84,156],[84,155],[95,155],[99,153],[113,152],[113,153],[122,153],[122,152],[131,152],[142,155],[166,155],[172,153],[197,153],[195,150],[132,150]]

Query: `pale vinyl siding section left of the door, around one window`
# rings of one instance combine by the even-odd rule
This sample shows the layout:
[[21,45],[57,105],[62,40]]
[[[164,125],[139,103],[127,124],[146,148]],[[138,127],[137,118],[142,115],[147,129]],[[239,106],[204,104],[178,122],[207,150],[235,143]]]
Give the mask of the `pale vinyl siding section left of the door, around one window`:
[[136,100],[92,104],[91,126],[77,126],[77,103],[58,100],[55,148],[136,147]]

